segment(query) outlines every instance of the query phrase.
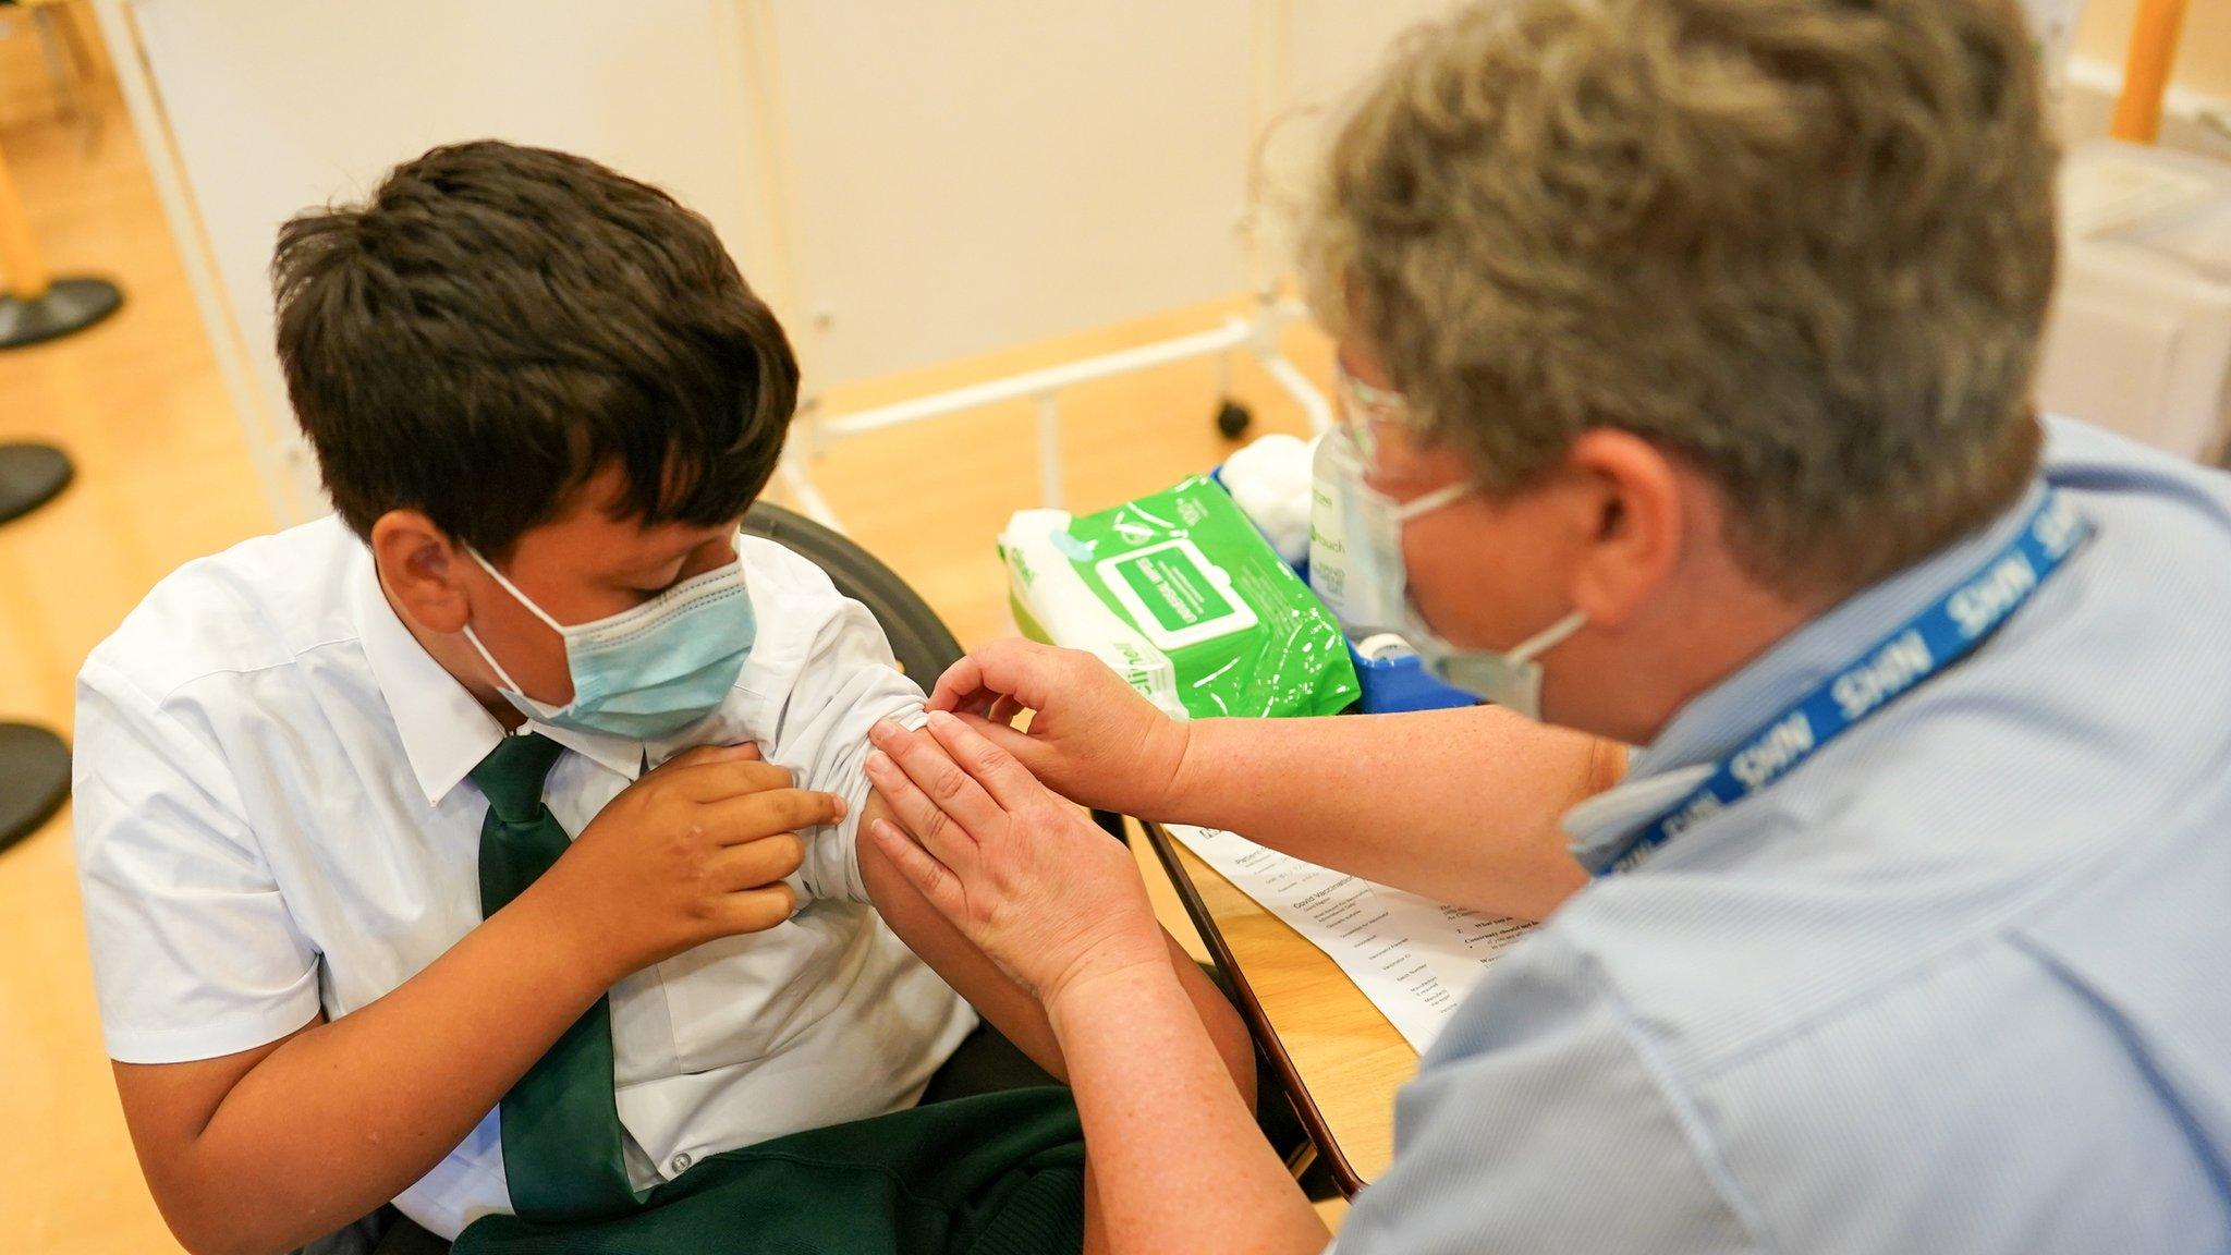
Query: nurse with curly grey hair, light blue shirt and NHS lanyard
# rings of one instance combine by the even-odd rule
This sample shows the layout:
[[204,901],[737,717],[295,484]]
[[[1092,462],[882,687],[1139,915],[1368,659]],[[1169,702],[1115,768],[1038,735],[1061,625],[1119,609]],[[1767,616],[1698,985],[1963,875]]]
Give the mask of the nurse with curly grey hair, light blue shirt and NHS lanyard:
[[1118,1251],[1327,1235],[1071,802],[1546,920],[1343,1255],[2231,1246],[2231,480],[2032,406],[2039,83],[2010,0],[1401,45],[1307,270],[1356,561],[1493,703],[1174,724],[1006,641],[877,732],[875,840],[1044,1000]]

